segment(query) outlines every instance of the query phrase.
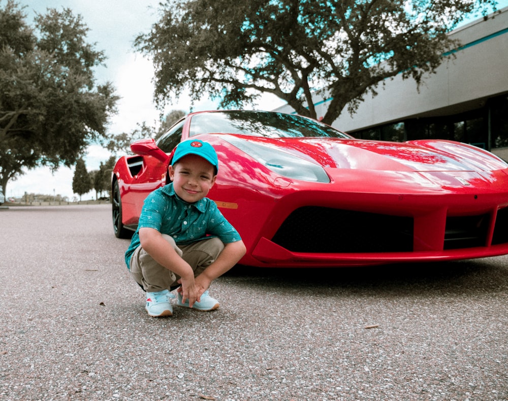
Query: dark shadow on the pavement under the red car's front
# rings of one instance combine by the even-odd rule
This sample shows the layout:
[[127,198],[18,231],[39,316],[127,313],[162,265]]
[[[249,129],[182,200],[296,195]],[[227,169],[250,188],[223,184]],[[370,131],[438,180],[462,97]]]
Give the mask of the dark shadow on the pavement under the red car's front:
[[[401,263],[354,268],[252,268],[237,265],[224,279],[265,287],[313,287],[369,291],[471,293],[508,289],[508,269],[498,258]],[[487,262],[488,260],[488,262]]]

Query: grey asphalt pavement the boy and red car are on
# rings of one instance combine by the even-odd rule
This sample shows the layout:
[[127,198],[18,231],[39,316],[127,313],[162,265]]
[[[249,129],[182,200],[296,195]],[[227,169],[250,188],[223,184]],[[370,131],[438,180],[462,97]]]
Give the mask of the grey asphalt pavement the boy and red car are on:
[[150,318],[109,205],[0,211],[0,400],[505,400],[508,258],[235,266]]

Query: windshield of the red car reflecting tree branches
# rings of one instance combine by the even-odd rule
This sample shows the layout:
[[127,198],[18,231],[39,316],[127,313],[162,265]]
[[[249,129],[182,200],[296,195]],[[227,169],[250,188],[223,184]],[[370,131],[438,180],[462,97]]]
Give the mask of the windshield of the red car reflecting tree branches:
[[344,133],[309,118],[274,112],[224,111],[196,114],[189,135],[236,133],[267,138],[348,138]]

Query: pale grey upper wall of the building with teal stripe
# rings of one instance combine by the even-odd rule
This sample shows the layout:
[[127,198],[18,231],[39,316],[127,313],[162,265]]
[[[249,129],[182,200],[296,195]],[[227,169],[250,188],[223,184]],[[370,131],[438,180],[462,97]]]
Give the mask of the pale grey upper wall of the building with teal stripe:
[[[344,109],[333,126],[354,131],[406,118],[456,114],[508,93],[508,8],[486,21],[473,21],[451,36],[465,47],[444,61],[436,74],[427,76],[420,91],[414,80],[402,80],[399,75],[379,86],[377,96],[365,96],[353,116]],[[328,103],[321,98],[314,103],[317,115],[324,115]],[[289,106],[276,110],[294,112]]]

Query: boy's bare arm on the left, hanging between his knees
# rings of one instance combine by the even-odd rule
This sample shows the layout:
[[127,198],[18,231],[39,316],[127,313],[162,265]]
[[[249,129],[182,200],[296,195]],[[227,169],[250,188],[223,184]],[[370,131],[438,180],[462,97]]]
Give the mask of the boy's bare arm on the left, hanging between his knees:
[[200,293],[196,286],[194,271],[162,237],[161,233],[154,228],[143,227],[139,229],[139,240],[143,249],[157,263],[182,278],[183,302],[188,298],[189,306],[192,307],[196,300],[199,301],[202,292]]

